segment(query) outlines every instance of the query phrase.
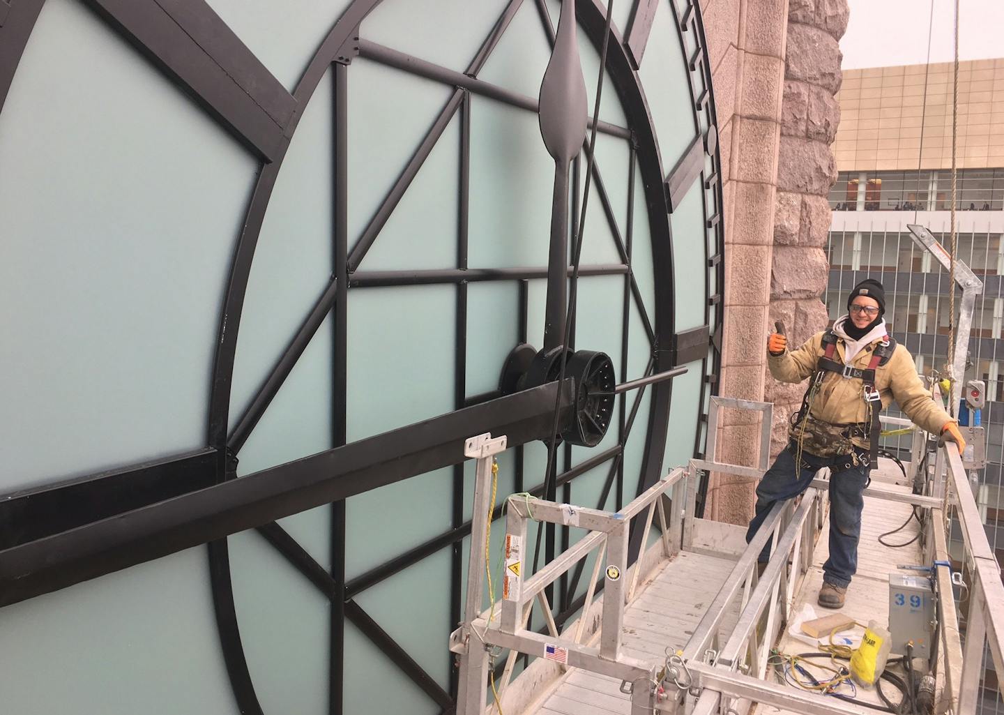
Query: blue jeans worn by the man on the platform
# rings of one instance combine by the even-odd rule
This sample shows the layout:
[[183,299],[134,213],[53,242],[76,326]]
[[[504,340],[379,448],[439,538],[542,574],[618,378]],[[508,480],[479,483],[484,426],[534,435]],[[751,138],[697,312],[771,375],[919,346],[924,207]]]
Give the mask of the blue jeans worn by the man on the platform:
[[[774,465],[757,486],[756,515],[746,531],[746,543],[753,540],[774,504],[801,494],[812,483],[816,471],[834,462],[832,457],[816,457],[803,452],[803,466],[797,469],[790,450],[788,447],[777,455]],[[861,492],[867,481],[868,469],[863,466],[830,475],[829,558],[822,566],[823,581],[826,583],[845,588],[857,570],[857,541],[861,535],[861,509],[864,506]],[[766,561],[769,557],[770,541],[767,541],[759,560]]]

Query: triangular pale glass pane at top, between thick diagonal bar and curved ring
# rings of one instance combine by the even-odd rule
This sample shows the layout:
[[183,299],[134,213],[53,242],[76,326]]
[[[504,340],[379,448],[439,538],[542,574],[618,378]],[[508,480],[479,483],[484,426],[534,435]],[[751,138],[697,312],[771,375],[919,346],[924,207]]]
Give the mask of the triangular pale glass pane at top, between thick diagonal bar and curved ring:
[[269,71],[293,90],[349,0],[207,0]]

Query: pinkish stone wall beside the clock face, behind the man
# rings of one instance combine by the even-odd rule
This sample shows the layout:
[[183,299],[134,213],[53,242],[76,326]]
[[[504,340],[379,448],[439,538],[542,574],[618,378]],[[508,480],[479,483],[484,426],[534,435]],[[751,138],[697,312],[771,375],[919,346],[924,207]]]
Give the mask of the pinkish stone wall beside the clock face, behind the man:
[[[836,40],[846,0],[701,0],[722,155],[725,334],[720,394],[776,401],[775,436],[801,396],[767,375],[766,336],[784,320],[792,340],[825,324],[829,144],[839,109]],[[759,420],[722,416],[719,461],[754,465]],[[772,455],[780,449],[779,437]],[[705,515],[745,523],[753,484],[712,475]]]

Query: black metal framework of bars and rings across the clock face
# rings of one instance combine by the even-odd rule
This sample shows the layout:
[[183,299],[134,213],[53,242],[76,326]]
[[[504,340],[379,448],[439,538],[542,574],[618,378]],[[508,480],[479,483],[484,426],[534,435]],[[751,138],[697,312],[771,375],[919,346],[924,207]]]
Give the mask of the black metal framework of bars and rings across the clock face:
[[[558,386],[550,384],[509,398],[491,393],[468,398],[464,384],[467,333],[467,286],[470,282],[518,281],[520,290],[519,334],[527,339],[528,281],[546,277],[547,268],[486,269],[470,268],[467,260],[468,187],[470,185],[470,98],[472,94],[489,96],[524,109],[535,110],[533,98],[489,84],[476,78],[498,40],[505,32],[522,0],[512,0],[482,44],[467,72],[459,73],[438,67],[391,48],[358,37],[358,26],[380,0],[356,0],[336,22],[311,61],[293,92],[261,64],[203,0],[82,0],[134,44],[145,56],[215,117],[263,163],[251,199],[244,229],[238,243],[229,286],[221,316],[219,348],[216,355],[212,395],[209,403],[207,446],[195,452],[179,454],[157,462],[101,472],[43,488],[10,495],[0,502],[0,606],[55,590],[142,561],[209,543],[214,605],[234,693],[241,712],[260,713],[241,646],[230,582],[230,568],[225,537],[250,527],[259,532],[283,553],[331,602],[330,711],[341,712],[342,644],[344,620],[383,650],[444,712],[453,708],[453,698],[407,651],[402,648],[354,600],[364,589],[413,565],[426,556],[449,546],[452,555],[452,621],[460,620],[461,542],[470,533],[471,524],[463,518],[463,457],[457,445],[478,425],[504,430],[510,444],[547,436],[551,410]],[[531,1],[531,0],[528,0]],[[542,25],[553,41],[553,28],[543,0],[536,2]],[[0,0],[0,109],[14,77],[21,53],[30,37],[44,0]],[[611,265],[582,266],[580,275],[623,275],[623,332],[621,335],[620,380],[626,381],[628,322],[631,300],[641,311],[645,330],[652,341],[652,359],[647,375],[669,370],[695,360],[702,361],[704,374],[717,381],[721,349],[721,295],[712,295],[705,306],[705,325],[681,333],[674,331],[672,281],[672,231],[668,216],[695,181],[702,181],[702,201],[707,217],[708,267],[717,276],[720,291],[724,280],[722,262],[723,230],[721,223],[722,191],[715,106],[711,92],[711,69],[705,51],[704,30],[697,0],[688,0],[683,12],[673,7],[681,46],[684,33],[691,33],[696,51],[687,58],[691,72],[695,124],[681,131],[693,132],[694,141],[674,169],[664,175],[658,140],[649,114],[640,79],[635,70],[644,58],[645,47],[655,16],[657,0],[635,0],[625,37],[611,31],[607,72],[629,117],[629,127],[598,123],[600,132],[631,142],[629,209],[624,234],[613,219],[613,208],[602,182],[600,170],[593,165],[592,180],[603,213],[614,236],[620,262]],[[576,14],[581,29],[598,48],[604,31],[605,9],[597,0],[578,0]],[[346,82],[348,65],[354,57],[413,72],[454,86],[454,92],[415,152],[395,187],[372,217],[351,250],[346,230]],[[247,288],[255,243],[269,196],[275,185],[282,158],[296,124],[314,88],[328,67],[333,66],[334,82],[334,265],[332,278],[314,308],[304,318],[297,334],[282,358],[262,383],[251,406],[228,435],[227,421],[230,385],[237,345],[237,326]],[[703,135],[697,122],[705,115],[710,129]],[[447,125],[459,113],[461,123],[460,209],[457,267],[431,271],[357,270],[366,250],[376,239],[425,159],[439,141]],[[710,155],[714,170],[704,171],[705,156]],[[644,182],[647,213],[653,233],[654,264],[668,269],[669,279],[656,286],[655,321],[645,312],[638,284],[632,272],[632,234],[634,217],[635,168],[638,165]],[[576,162],[573,170],[580,172]],[[575,184],[577,185],[577,183]],[[709,202],[708,191],[711,192]],[[572,212],[573,216],[575,212]],[[575,227],[573,227],[573,230]],[[349,287],[449,283],[457,286],[457,365],[454,385],[458,412],[440,418],[434,426],[425,424],[396,430],[387,435],[345,445],[346,292]],[[712,308],[715,308],[712,315]],[[332,393],[333,448],[319,455],[287,465],[263,470],[236,480],[236,455],[255,424],[277,394],[296,360],[306,347],[321,321],[334,313],[334,385]],[[709,345],[711,349],[709,350]],[[668,428],[671,383],[652,386],[652,409],[647,433],[645,458],[639,490],[659,477]],[[556,475],[554,488],[562,488],[571,499],[572,480],[586,471],[609,464],[600,505],[611,490],[618,506],[623,503],[623,445],[632,432],[641,405],[642,393],[636,395],[629,410],[621,401],[617,419],[616,446],[571,467],[570,448],[564,452],[565,469]],[[700,406],[705,417],[703,397]],[[562,410],[571,404],[570,385],[562,386],[559,403]],[[463,412],[461,412],[463,411]],[[487,429],[485,430],[487,431]],[[655,439],[654,439],[655,437]],[[698,429],[695,454],[701,453],[702,430]],[[390,450],[390,451],[389,451]],[[522,447],[517,446],[516,488],[524,489]],[[412,460],[411,468],[390,466]],[[345,501],[358,494],[393,481],[408,478],[441,466],[454,465],[453,525],[447,532],[411,548],[405,553],[346,581],[344,577]],[[240,482],[240,484],[238,484]],[[300,484],[298,490],[290,483]],[[543,484],[529,491],[542,493]],[[332,569],[320,566],[274,519],[302,511],[317,504],[330,503],[332,509]],[[500,507],[501,508],[501,507]],[[67,533],[74,530],[72,534]],[[562,541],[567,545],[565,529]],[[637,548],[637,546],[636,546]],[[579,569],[562,582],[557,621],[563,623],[581,606],[574,599],[581,575]],[[455,681],[453,682],[455,692]]]

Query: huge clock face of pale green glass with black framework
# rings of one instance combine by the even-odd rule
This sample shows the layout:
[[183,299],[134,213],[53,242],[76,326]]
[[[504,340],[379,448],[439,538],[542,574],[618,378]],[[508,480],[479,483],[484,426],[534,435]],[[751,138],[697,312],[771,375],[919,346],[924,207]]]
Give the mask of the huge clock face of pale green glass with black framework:
[[[0,17],[16,308],[0,494],[33,499],[5,507],[0,576],[45,536],[311,455],[337,468],[343,446],[528,387],[503,374],[545,344],[560,202],[537,108],[560,4],[302,5],[39,0]],[[605,13],[577,5],[590,116]],[[562,269],[582,246],[567,346],[608,355],[617,383],[688,372],[618,394],[598,444],[562,442],[550,474],[544,441],[507,451],[500,497],[616,509],[702,450],[723,264],[696,2],[616,3],[606,52],[594,156],[572,159],[564,197]],[[0,609],[7,706],[449,709],[473,465],[412,472],[19,597]],[[581,535],[545,534],[540,562]],[[586,580],[552,595],[559,622]]]

